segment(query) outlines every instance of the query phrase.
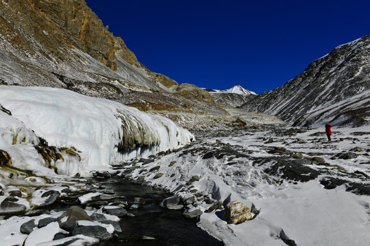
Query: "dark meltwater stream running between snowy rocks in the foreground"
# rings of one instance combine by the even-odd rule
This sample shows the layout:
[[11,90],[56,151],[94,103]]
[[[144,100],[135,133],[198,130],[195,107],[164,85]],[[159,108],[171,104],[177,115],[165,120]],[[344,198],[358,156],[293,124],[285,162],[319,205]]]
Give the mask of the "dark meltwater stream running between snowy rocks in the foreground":
[[[162,208],[160,202],[171,194],[153,187],[136,184],[131,180],[113,176],[99,182],[106,190],[114,193],[116,202],[138,204],[138,208],[125,208],[134,217],[123,216],[119,225],[122,232],[99,245],[207,245],[221,246],[223,243],[197,227],[197,219],[186,219],[184,210]],[[118,201],[117,201],[118,200]],[[155,239],[145,239],[145,237]]]

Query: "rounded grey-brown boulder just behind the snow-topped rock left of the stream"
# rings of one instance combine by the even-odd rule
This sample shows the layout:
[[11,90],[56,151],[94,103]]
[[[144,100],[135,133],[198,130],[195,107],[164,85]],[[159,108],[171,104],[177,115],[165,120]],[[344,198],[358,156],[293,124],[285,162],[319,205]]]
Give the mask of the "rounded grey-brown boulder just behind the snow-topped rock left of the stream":
[[79,206],[71,206],[58,218],[60,228],[67,231],[72,230],[75,222],[80,220],[93,221],[86,211]]

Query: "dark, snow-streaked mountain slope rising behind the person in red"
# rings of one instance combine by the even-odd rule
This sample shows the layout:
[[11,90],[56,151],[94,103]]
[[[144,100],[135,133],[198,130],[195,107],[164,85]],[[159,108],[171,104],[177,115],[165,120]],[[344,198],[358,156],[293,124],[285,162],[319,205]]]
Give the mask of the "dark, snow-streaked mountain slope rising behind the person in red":
[[343,44],[313,61],[281,87],[242,106],[302,126],[370,122],[370,36]]

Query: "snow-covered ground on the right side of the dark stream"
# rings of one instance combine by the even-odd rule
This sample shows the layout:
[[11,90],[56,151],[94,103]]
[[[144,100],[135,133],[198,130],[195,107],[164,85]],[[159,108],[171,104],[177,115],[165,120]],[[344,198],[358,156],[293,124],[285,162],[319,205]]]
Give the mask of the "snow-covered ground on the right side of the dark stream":
[[[267,152],[267,148],[284,146],[294,152],[302,152],[305,156],[314,151],[322,152],[321,156],[330,165],[340,165],[347,169],[348,173],[358,170],[369,175],[368,165],[359,164],[369,161],[366,155],[359,155],[355,160],[330,159],[332,154],[348,151],[354,146],[369,148],[369,135],[359,136],[356,143],[352,140],[336,141],[355,131],[369,129],[333,130],[332,143],[326,143],[323,138],[325,135],[318,137],[315,142],[316,137],[312,135],[323,131],[318,128],[298,133],[294,137],[279,137],[270,131],[211,137],[151,163],[151,166],[160,166],[158,172],[164,174],[162,177],[153,179],[155,174],[143,172],[147,166],[135,169],[133,177],[145,176],[145,180],[151,184],[167,188],[184,199],[192,195],[199,197],[197,194],[201,194],[201,197],[206,195],[214,202],[223,201],[224,206],[227,202],[236,200],[260,210],[255,219],[238,225],[227,224],[223,220],[223,210],[201,215],[198,226],[222,240],[225,245],[286,245],[284,241],[291,239],[297,245],[366,246],[370,244],[368,195],[345,191],[344,185],[335,189],[323,189],[319,182],[321,176],[309,182],[282,180],[264,172],[273,161],[263,164],[253,161],[259,158],[268,160],[273,154]],[[265,140],[261,139],[264,136],[274,138],[275,141],[264,143]],[[306,143],[297,143],[297,138],[305,139]],[[215,156],[203,159],[204,153],[221,150],[223,145],[215,144],[216,140],[230,143],[232,148],[240,150],[240,153],[250,153],[249,157],[230,154],[221,159]],[[176,163],[169,165],[174,160]],[[334,178],[345,178],[343,172],[336,169],[331,172],[330,175]],[[199,181],[189,184],[188,181],[195,175],[199,176]],[[199,200],[197,207],[189,209],[206,211],[209,206],[204,200]]]

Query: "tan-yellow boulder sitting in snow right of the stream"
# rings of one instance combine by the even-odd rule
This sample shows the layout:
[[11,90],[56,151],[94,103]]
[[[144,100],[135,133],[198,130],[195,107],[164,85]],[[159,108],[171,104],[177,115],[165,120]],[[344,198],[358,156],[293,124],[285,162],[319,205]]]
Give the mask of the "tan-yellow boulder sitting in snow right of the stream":
[[232,202],[225,208],[224,219],[227,223],[243,223],[253,219],[251,209],[243,204],[243,202]]

